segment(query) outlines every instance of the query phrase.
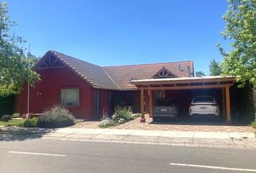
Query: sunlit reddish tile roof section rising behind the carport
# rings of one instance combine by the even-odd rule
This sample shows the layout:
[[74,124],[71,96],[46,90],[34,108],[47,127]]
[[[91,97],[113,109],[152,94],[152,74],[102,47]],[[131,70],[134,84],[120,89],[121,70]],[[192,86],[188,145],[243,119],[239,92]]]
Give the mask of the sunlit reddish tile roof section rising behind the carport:
[[129,66],[106,66],[103,68],[116,82],[120,89],[126,90],[137,89],[136,86],[129,84],[131,79],[150,79],[163,67],[165,67],[168,71],[177,77],[194,76],[193,61],[151,63]]

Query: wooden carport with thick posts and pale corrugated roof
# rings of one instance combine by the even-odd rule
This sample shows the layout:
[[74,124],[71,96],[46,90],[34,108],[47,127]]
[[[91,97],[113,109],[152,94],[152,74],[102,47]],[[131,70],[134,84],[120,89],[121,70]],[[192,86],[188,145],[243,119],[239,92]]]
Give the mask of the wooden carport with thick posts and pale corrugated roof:
[[[221,89],[222,115],[226,116],[226,123],[231,124],[231,106],[229,87],[234,84],[234,76],[203,76],[161,79],[133,79],[130,84],[140,90],[140,123],[145,123],[145,104],[149,105],[150,117],[153,116],[154,90],[185,90],[185,89]],[[149,99],[145,102],[145,91]]]

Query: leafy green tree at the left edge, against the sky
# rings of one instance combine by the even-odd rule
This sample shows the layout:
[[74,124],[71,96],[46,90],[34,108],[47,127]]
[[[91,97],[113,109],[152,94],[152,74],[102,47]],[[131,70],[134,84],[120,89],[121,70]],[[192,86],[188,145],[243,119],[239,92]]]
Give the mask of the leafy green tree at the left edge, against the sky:
[[16,25],[9,19],[7,3],[0,2],[0,95],[17,94],[25,81],[33,85],[39,80],[39,75],[30,69],[35,61],[31,55],[25,56],[24,48],[19,46],[25,41],[10,33]]

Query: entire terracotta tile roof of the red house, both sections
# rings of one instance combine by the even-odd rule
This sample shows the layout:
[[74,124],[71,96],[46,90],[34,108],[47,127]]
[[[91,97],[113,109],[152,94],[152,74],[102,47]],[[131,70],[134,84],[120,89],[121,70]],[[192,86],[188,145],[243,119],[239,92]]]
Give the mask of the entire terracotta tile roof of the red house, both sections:
[[94,88],[114,90],[137,89],[136,86],[129,84],[132,79],[150,79],[163,67],[177,77],[194,76],[193,61],[101,67],[54,50],[49,50],[45,56],[35,63],[33,68],[36,68],[48,55],[59,58],[60,61],[71,68],[82,79],[88,81]]

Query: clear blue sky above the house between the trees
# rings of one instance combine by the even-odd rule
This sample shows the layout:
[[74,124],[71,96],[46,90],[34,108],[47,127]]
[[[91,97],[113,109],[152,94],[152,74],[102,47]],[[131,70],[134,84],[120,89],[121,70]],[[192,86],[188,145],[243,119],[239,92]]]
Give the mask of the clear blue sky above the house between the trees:
[[7,0],[17,35],[31,53],[56,50],[100,66],[195,62],[208,74],[220,35],[225,0]]

